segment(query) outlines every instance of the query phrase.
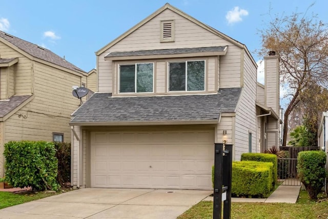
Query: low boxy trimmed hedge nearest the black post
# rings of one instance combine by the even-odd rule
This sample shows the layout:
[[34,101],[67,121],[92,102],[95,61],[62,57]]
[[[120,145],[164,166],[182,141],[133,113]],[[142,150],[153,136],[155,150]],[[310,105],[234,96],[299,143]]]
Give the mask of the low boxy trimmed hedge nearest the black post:
[[233,162],[232,195],[268,197],[272,190],[272,172],[273,164],[271,162]]

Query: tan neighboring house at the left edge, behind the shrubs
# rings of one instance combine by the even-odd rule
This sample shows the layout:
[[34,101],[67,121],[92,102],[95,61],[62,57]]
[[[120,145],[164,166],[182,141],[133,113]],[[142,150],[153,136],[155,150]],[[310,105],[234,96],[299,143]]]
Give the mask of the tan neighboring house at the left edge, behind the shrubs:
[[0,177],[9,141],[71,142],[72,86],[87,73],[50,50],[0,31]]

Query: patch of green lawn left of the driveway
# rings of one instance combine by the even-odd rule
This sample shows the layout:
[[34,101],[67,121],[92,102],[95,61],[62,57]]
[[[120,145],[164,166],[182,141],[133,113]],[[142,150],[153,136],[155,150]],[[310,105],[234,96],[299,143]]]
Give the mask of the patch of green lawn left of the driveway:
[[45,192],[0,192],[0,209],[7,208],[13,205],[19,205],[25,202],[30,202],[33,200],[38,200],[40,198],[48,197],[54,195],[55,193],[45,193]]

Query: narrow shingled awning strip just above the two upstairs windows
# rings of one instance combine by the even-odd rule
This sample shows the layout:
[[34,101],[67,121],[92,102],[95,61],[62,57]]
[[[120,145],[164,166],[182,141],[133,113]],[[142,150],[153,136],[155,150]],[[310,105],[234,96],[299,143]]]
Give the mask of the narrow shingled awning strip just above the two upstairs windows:
[[137,56],[137,55],[171,55],[171,54],[196,53],[196,52],[222,52],[224,51],[224,49],[226,49],[226,46],[182,48],[182,49],[139,50],[139,51],[128,51],[128,52],[110,52],[105,57]]

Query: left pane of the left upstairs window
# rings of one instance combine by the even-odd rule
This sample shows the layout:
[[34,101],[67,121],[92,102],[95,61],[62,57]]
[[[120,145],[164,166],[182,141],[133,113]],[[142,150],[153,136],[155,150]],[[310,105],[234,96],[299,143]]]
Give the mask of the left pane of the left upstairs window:
[[120,66],[119,92],[135,92],[134,89],[135,65]]

